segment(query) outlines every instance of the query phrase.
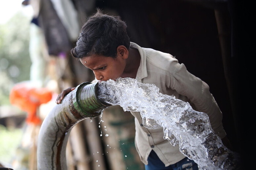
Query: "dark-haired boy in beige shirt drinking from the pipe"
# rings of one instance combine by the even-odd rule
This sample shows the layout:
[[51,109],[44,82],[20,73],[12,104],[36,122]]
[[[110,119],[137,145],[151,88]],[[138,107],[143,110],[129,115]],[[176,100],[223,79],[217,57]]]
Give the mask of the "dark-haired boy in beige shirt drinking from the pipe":
[[[73,57],[94,72],[101,82],[119,77],[134,78],[138,82],[155,84],[159,92],[174,95],[189,102],[193,109],[209,116],[211,127],[229,144],[222,126],[222,112],[208,85],[190,74],[184,64],[170,54],[150,48],[142,48],[129,41],[127,25],[120,17],[98,12],[89,17],[71,50]],[[68,88],[57,97],[59,104],[64,96],[75,88]],[[197,164],[163,139],[163,129],[147,129],[143,126],[139,112],[131,112],[135,117],[135,145],[146,170],[198,169]]]

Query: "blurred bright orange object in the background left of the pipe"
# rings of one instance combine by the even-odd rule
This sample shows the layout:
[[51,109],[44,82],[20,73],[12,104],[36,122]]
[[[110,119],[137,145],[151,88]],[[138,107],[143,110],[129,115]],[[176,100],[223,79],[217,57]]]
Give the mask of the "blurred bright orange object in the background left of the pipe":
[[16,84],[10,92],[11,104],[28,113],[27,123],[41,124],[42,121],[37,116],[37,108],[51,99],[52,92],[50,90],[33,87],[29,82]]

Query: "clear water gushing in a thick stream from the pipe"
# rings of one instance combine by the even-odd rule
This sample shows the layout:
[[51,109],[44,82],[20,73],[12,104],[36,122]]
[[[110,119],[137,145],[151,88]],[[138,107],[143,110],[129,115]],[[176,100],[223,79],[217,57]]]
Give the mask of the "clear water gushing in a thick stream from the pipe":
[[208,115],[192,109],[187,102],[164,95],[154,84],[119,78],[99,83],[99,96],[124,111],[138,111],[147,128],[163,127],[164,139],[179,144],[182,154],[199,169],[237,169],[239,156],[227,149],[213,132]]

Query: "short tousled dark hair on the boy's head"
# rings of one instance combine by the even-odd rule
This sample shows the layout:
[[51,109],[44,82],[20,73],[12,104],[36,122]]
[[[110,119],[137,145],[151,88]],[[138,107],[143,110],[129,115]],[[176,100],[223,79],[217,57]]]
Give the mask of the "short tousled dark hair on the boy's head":
[[97,13],[83,25],[71,55],[78,59],[92,54],[116,58],[118,46],[129,49],[126,28],[126,23],[119,16],[109,16],[97,9]]

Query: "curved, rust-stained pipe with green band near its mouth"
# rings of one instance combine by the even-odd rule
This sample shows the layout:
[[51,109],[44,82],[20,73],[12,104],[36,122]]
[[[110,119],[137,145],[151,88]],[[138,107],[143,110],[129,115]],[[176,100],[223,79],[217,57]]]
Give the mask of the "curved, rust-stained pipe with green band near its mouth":
[[111,106],[97,98],[98,92],[98,83],[84,82],[46,116],[38,135],[38,170],[67,170],[66,147],[71,129]]

